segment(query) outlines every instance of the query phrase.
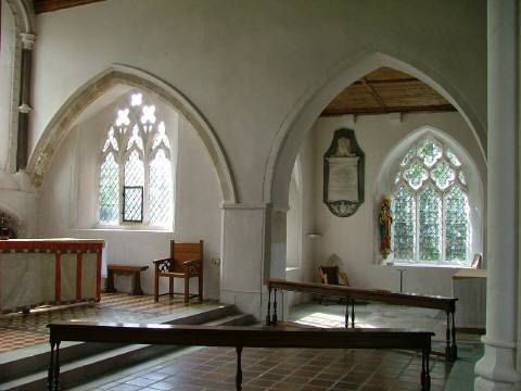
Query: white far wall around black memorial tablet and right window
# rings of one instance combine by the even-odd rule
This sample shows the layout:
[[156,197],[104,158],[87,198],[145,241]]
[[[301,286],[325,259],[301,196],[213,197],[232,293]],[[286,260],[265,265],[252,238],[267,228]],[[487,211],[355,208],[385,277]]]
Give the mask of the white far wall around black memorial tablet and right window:
[[[315,267],[325,264],[332,254],[338,255],[348,275],[350,283],[360,288],[399,290],[399,274],[394,266],[382,266],[378,253],[379,232],[376,227],[381,195],[379,174],[387,164],[387,155],[407,137],[424,126],[446,133],[459,142],[474,161],[476,174],[471,180],[486,185],[486,165],[471,130],[459,113],[407,114],[402,121],[396,115],[321,117],[313,128],[315,144],[315,227],[321,238],[314,240]],[[322,202],[323,153],[331,144],[333,134],[340,128],[355,130],[356,139],[366,154],[365,202],[351,217],[336,217]],[[420,130],[421,131],[421,130]],[[380,178],[381,180],[381,178]],[[481,187],[481,184],[480,186]],[[486,201],[473,204],[484,214]],[[475,234],[475,232],[474,232]],[[476,238],[479,244],[483,232]],[[479,245],[474,251],[480,250]],[[402,268],[402,267],[401,267]],[[424,294],[452,294],[452,275],[455,268],[406,267],[404,290]]]

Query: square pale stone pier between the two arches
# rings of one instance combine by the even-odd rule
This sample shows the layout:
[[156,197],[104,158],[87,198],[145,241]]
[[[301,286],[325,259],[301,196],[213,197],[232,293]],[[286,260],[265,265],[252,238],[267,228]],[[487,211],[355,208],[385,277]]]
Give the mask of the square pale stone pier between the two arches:
[[[270,204],[223,205],[220,302],[264,321],[268,278],[285,277],[287,210]],[[278,298],[283,318],[282,293]]]

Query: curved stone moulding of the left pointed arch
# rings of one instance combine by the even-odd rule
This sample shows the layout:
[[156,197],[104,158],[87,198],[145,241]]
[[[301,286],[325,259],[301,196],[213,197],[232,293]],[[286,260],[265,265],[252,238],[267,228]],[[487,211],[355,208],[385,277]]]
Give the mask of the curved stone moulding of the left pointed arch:
[[78,116],[98,98],[117,85],[139,88],[155,94],[179,111],[193,125],[209,153],[217,171],[224,202],[239,202],[233,175],[223,147],[196,108],[181,92],[165,81],[144,71],[120,64],[114,64],[88,80],[54,114],[40,136],[27,165],[27,173],[33,178],[35,186],[41,186],[54,152]]

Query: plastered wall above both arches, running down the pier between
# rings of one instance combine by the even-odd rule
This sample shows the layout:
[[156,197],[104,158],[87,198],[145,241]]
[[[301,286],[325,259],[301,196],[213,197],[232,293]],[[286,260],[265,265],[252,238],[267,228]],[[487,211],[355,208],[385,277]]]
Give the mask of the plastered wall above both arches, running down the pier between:
[[[237,187],[224,211],[221,299],[255,315],[266,307],[266,270],[285,256],[285,240],[266,244],[268,209],[288,207],[306,133],[341,88],[371,71],[353,71],[360,61],[386,53],[419,70],[404,66],[442,86],[486,138],[485,0],[109,0],[38,15],[37,25],[31,148],[63,102],[113,64],[154,75],[202,113]],[[347,83],[336,83],[344,72]],[[289,153],[279,153],[282,140]],[[274,171],[283,180],[272,181]]]

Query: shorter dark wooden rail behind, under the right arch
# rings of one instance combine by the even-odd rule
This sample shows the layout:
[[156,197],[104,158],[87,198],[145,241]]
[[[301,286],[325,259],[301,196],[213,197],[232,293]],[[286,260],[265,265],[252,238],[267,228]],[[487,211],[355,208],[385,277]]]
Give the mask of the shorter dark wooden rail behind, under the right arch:
[[[447,360],[456,360],[458,348],[456,344],[455,312],[456,298],[440,295],[424,295],[417,293],[397,293],[378,289],[360,289],[343,286],[332,286],[315,282],[297,282],[283,279],[271,278],[268,281],[268,313],[266,315],[266,325],[277,324],[277,291],[306,292],[321,295],[333,295],[345,298],[347,301],[345,311],[345,327],[350,326],[350,304],[351,304],[351,326],[355,327],[355,300],[381,302],[395,305],[407,305],[422,308],[442,310],[447,315],[446,346],[445,356]],[[271,291],[274,291],[272,315],[271,315]]]

